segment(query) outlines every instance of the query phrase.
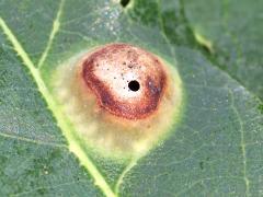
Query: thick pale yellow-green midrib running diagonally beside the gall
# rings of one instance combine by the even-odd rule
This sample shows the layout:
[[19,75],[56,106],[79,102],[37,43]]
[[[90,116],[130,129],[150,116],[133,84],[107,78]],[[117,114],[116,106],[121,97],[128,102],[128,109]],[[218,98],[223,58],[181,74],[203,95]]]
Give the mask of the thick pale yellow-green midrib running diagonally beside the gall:
[[64,115],[57,103],[55,102],[53,95],[49,93],[47,86],[45,85],[41,72],[37,68],[34,67],[34,63],[30,59],[28,55],[25,53],[12,31],[5,24],[2,18],[0,18],[0,27],[2,28],[3,33],[7,35],[8,39],[12,43],[14,50],[21,57],[23,63],[27,67],[31,74],[33,76],[36,85],[44,96],[49,109],[53,112],[58,126],[60,127],[64,135],[67,137],[69,142],[69,149],[79,158],[82,165],[90,172],[91,176],[95,181],[95,185],[98,185],[102,192],[108,196],[114,197],[115,194],[111,189],[110,185],[106,183],[105,178],[99,172],[96,166],[92,163],[85,152],[81,149],[78,144],[75,135],[72,134],[72,126],[69,124],[67,116]]

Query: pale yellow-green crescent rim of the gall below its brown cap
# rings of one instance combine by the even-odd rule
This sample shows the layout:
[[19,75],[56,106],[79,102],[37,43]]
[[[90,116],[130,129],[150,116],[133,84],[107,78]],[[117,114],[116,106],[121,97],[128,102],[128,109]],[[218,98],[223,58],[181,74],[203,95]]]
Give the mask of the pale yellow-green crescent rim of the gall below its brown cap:
[[[174,128],[182,105],[182,82],[178,71],[167,61],[168,90],[158,112],[137,120],[118,118],[99,107],[96,97],[84,81],[79,80],[80,53],[58,66],[54,77],[54,94],[87,147],[110,158],[138,158]],[[84,90],[84,91],[83,91]]]

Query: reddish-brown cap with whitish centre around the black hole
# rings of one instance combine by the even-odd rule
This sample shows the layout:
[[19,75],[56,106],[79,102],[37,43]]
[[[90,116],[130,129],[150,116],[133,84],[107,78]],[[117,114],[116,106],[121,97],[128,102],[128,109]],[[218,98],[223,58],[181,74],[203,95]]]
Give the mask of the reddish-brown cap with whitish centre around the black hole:
[[[111,44],[89,54],[81,77],[100,107],[126,119],[146,118],[158,111],[167,90],[167,73],[152,54],[128,44]],[[128,82],[136,80],[138,91]]]

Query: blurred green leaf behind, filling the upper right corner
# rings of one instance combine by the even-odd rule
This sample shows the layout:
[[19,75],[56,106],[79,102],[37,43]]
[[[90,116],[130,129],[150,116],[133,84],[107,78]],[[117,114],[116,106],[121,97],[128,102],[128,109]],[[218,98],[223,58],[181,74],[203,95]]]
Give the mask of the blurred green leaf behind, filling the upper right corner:
[[211,44],[213,61],[262,100],[263,2],[190,0],[184,9],[194,34]]

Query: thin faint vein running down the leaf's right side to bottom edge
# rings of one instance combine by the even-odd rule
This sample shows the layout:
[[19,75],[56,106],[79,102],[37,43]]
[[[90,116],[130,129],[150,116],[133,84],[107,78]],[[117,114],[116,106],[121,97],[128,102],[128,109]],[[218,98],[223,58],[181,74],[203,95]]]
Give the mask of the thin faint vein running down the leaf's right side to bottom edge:
[[233,92],[232,90],[229,89],[229,94],[230,94],[230,99],[231,99],[231,108],[233,111],[233,113],[236,114],[238,121],[239,121],[239,130],[240,130],[240,136],[241,136],[241,140],[240,140],[240,147],[241,147],[241,151],[242,151],[242,162],[243,162],[243,179],[244,179],[244,184],[245,184],[245,196],[249,196],[250,194],[250,181],[248,178],[248,173],[247,173],[247,152],[245,152],[245,141],[244,141],[244,129],[243,129],[243,121],[239,115],[239,112],[237,109],[237,107],[235,106],[235,97],[233,97]]

